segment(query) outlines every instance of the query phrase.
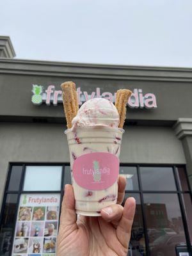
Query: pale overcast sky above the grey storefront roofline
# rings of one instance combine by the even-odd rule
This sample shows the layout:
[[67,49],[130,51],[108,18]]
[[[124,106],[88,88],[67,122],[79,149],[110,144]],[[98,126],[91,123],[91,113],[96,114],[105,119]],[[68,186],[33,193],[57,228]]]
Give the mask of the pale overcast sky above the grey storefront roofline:
[[192,67],[191,0],[6,0],[16,58]]

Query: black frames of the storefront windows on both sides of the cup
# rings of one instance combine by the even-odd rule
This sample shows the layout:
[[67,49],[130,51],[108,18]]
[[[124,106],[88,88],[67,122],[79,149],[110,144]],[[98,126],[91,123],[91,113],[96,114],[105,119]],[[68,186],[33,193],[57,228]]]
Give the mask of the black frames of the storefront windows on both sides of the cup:
[[[11,175],[11,171],[12,171],[12,166],[22,166],[22,174],[21,174],[21,179],[20,179],[20,185],[19,185],[19,190],[18,191],[8,191],[8,186],[9,186],[9,180],[10,180],[10,175]],[[58,191],[24,191],[22,190],[24,188],[24,178],[25,178],[25,173],[26,173],[26,166],[62,166],[62,173],[61,173],[61,189]],[[19,208],[19,202],[20,202],[20,195],[21,194],[29,194],[29,193],[60,193],[61,195],[61,202],[60,202],[60,213],[61,213],[61,203],[62,203],[62,199],[63,199],[63,195],[64,195],[64,190],[63,190],[63,182],[65,180],[65,166],[70,166],[70,163],[9,163],[8,165],[8,174],[6,177],[6,185],[4,188],[4,194],[3,194],[3,202],[1,205],[1,214],[0,214],[0,227],[1,227],[1,223],[3,220],[3,212],[4,212],[4,207],[5,207],[5,201],[6,201],[6,195],[7,194],[17,194],[18,198],[17,198],[17,204],[16,204],[16,211],[18,212],[18,208]],[[183,221],[183,225],[184,225],[184,232],[185,232],[185,236],[186,236],[186,245],[188,248],[188,251],[191,252],[191,243],[192,241],[190,241],[190,237],[189,237],[189,230],[188,230],[188,223],[187,223],[187,218],[186,218],[186,213],[184,210],[184,204],[182,202],[182,194],[189,194],[191,201],[192,201],[192,195],[191,195],[191,187],[189,184],[189,179],[186,173],[186,165],[184,164],[135,164],[135,163],[120,163],[120,166],[124,167],[124,166],[132,166],[132,167],[136,167],[137,170],[137,177],[138,177],[138,190],[125,190],[125,194],[127,193],[137,193],[140,195],[140,201],[141,201],[141,214],[142,214],[142,220],[143,220],[143,231],[144,231],[144,236],[145,236],[145,251],[146,251],[146,255],[150,256],[150,248],[149,248],[149,239],[148,239],[148,234],[147,234],[147,218],[146,218],[146,212],[144,210],[144,200],[143,200],[143,194],[145,193],[174,193],[177,194],[178,199],[179,199],[179,206],[180,206],[180,212],[181,212],[181,216],[182,216],[182,221]],[[150,166],[150,167],[172,167],[173,169],[173,177],[175,180],[175,186],[176,186],[176,190],[175,191],[147,191],[147,190],[143,190],[142,189],[142,184],[141,184],[141,173],[140,173],[140,167],[143,166]],[[188,182],[188,188],[189,190],[184,190],[182,191],[180,189],[179,186],[179,177],[177,176],[177,167],[182,167],[184,168],[184,172],[186,175],[186,179]],[[15,218],[14,218],[14,224],[13,224],[13,230],[15,230],[15,225],[16,225],[16,218],[17,218],[17,214],[15,214]],[[58,227],[60,225],[60,220],[58,221]],[[9,252],[9,255],[11,255],[12,253],[12,248],[13,248],[13,239],[14,236],[12,236],[12,239],[10,241],[11,243],[11,250]],[[191,252],[192,253],[192,252]]]

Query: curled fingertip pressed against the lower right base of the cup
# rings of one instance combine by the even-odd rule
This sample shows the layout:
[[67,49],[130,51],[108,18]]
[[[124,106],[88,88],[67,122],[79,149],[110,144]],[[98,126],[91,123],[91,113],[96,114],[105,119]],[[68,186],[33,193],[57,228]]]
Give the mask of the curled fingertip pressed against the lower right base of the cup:
[[121,218],[124,211],[124,207],[119,204],[113,204],[100,211],[102,218],[106,221],[117,223]]

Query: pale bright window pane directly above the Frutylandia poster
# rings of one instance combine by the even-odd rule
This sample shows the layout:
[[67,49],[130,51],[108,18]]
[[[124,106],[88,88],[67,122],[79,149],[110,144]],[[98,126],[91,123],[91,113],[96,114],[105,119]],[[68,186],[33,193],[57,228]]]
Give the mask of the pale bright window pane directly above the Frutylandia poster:
[[24,191],[61,190],[62,166],[26,166]]

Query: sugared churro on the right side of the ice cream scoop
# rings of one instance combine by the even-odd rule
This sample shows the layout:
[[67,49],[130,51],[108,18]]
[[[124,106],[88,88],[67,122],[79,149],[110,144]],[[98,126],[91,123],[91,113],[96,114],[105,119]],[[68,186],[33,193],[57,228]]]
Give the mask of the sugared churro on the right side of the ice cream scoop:
[[126,116],[126,105],[127,100],[131,96],[131,91],[127,89],[120,89],[116,92],[115,106],[120,116],[119,128],[124,127],[125,116]]

